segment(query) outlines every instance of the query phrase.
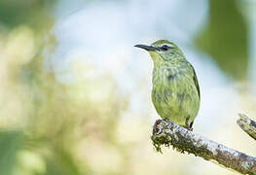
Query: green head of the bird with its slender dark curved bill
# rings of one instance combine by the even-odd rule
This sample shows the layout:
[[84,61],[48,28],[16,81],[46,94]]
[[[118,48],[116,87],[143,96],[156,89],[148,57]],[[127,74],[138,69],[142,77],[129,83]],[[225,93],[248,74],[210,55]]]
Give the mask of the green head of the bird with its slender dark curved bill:
[[172,42],[167,40],[158,40],[147,45],[135,45],[134,47],[141,48],[150,53],[154,62],[173,61],[184,58],[182,51]]

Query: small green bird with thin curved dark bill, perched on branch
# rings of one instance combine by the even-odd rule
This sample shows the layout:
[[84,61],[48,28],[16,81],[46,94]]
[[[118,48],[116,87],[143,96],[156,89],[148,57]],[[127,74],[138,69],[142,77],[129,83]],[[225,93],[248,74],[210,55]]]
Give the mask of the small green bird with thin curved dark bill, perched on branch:
[[[164,120],[192,130],[201,101],[194,67],[177,45],[167,40],[134,47],[149,52],[154,61],[151,98],[158,114]],[[158,121],[154,129],[156,124]]]

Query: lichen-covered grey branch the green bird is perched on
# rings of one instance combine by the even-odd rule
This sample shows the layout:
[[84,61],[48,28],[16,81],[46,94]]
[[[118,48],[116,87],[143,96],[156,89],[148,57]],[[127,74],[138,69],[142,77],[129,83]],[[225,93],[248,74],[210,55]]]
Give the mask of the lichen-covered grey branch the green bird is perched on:
[[151,137],[157,151],[161,146],[172,146],[181,153],[187,152],[196,157],[217,162],[242,174],[256,175],[256,157],[250,157],[170,121],[157,123]]

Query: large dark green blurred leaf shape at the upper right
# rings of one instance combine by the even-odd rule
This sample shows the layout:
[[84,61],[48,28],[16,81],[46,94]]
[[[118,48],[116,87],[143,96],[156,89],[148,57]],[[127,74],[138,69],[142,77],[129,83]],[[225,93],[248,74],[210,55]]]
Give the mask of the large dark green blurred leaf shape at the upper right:
[[196,43],[228,76],[242,80],[248,68],[248,27],[238,2],[209,0],[208,22]]

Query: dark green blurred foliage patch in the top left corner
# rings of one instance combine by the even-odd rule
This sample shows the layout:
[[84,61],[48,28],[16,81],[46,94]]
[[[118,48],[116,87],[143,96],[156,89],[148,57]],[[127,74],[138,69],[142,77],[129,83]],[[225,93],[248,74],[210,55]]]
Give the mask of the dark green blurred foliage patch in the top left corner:
[[0,1],[0,24],[6,27],[27,24],[38,28],[39,32],[50,29],[54,21],[47,7],[53,6],[55,2],[55,0],[2,0]]

